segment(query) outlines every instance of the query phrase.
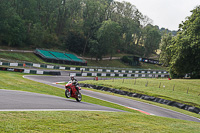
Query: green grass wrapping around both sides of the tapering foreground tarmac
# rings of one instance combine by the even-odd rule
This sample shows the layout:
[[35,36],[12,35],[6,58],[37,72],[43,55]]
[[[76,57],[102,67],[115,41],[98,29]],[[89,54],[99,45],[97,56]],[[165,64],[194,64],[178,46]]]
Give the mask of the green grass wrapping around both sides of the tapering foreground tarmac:
[[[64,89],[22,78],[23,74],[0,71],[0,89],[64,96]],[[0,112],[0,132],[198,132],[200,123],[148,116],[122,106],[83,96],[90,102],[121,112],[40,111]]]

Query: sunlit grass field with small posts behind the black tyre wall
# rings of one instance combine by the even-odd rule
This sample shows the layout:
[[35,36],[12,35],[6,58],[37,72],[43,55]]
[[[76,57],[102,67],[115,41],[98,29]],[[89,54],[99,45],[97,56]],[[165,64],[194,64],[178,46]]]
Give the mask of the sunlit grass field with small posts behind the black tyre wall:
[[200,107],[199,79],[117,79],[84,81],[83,83],[107,86]]

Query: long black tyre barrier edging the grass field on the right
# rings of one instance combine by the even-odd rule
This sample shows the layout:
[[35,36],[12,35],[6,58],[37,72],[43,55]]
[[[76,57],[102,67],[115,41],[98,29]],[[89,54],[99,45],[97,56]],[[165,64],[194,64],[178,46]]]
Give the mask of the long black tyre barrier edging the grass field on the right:
[[138,93],[127,92],[127,91],[122,91],[122,90],[119,90],[119,89],[113,89],[113,88],[108,88],[108,87],[103,87],[103,86],[96,86],[96,85],[90,85],[90,84],[79,84],[79,85],[81,87],[93,88],[93,89],[97,89],[97,90],[108,91],[108,92],[112,92],[112,93],[116,93],[116,94],[120,94],[120,95],[126,95],[126,96],[129,96],[129,97],[136,97],[136,98],[140,98],[140,99],[144,99],[144,100],[148,100],[148,101],[166,104],[166,105],[169,105],[169,106],[177,107],[177,108],[180,108],[180,109],[188,110],[188,111],[193,112],[193,113],[200,114],[200,108],[190,106],[190,105],[186,105],[186,104],[182,104],[182,103],[178,103],[178,102],[175,102],[175,101],[169,101],[169,100],[165,100],[165,99],[162,99],[162,98],[157,98],[157,97],[138,94]]

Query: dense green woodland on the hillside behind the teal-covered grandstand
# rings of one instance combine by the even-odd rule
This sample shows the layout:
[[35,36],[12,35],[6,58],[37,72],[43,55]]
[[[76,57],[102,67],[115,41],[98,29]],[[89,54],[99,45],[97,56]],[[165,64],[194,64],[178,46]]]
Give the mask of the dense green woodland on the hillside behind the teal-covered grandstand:
[[134,5],[113,0],[1,0],[0,45],[57,48],[101,59],[148,57],[161,35]]

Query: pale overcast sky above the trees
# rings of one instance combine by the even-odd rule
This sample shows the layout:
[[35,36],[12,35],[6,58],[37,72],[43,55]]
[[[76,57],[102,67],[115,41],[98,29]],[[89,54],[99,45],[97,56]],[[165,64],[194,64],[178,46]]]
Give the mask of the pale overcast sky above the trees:
[[200,5],[200,0],[116,0],[135,5],[143,14],[158,25],[169,30],[178,30],[179,24],[191,16],[191,10]]

